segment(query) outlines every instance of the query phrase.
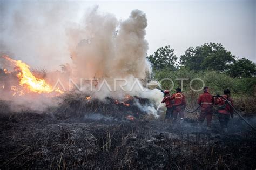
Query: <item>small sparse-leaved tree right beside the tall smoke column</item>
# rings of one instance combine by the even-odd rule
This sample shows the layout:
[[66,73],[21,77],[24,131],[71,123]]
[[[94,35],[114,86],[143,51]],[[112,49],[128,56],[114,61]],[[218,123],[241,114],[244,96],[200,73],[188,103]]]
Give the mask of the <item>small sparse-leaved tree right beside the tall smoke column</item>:
[[154,69],[176,69],[175,63],[177,57],[174,55],[174,50],[170,49],[170,45],[160,47],[153,55],[150,55],[147,58],[152,63]]

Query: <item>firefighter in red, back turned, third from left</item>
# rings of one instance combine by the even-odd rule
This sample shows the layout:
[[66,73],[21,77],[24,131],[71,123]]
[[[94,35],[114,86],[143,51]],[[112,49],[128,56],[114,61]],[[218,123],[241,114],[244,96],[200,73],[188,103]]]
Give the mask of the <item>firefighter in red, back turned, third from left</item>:
[[201,113],[198,117],[199,124],[203,124],[206,118],[207,130],[211,130],[214,99],[213,96],[209,93],[208,87],[204,87],[204,93],[200,94],[197,103],[201,105]]

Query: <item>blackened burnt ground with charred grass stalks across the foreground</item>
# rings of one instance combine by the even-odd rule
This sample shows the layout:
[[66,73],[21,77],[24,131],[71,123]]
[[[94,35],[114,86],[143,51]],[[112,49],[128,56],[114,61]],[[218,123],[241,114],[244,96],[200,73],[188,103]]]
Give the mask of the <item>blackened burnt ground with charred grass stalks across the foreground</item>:
[[171,124],[146,115],[133,121],[116,113],[61,115],[1,113],[0,168],[256,168],[255,132],[238,118],[221,134],[217,120],[210,133],[191,119]]

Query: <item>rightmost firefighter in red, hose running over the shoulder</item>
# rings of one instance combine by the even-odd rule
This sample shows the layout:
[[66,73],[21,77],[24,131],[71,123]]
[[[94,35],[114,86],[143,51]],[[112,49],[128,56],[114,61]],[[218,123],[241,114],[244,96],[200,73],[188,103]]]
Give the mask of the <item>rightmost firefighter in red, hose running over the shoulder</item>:
[[[230,97],[230,90],[226,89],[223,91],[224,95],[223,97],[228,100],[228,102],[233,106],[233,100]],[[217,94],[217,98],[215,98],[215,104],[218,105],[218,117],[220,121],[221,130],[223,130],[224,133],[227,133],[227,124],[230,120],[230,117],[233,118],[233,108],[227,103],[227,101],[221,98]]]

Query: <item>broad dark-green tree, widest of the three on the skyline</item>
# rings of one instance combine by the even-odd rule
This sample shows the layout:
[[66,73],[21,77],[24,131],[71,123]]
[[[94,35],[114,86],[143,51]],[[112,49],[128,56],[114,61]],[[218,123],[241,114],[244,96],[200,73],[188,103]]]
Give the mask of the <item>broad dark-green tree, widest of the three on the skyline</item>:
[[224,72],[234,62],[234,57],[220,43],[205,43],[188,48],[180,56],[180,65],[196,71],[209,69]]

